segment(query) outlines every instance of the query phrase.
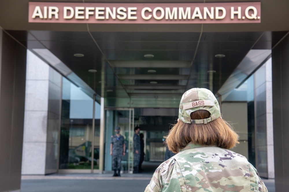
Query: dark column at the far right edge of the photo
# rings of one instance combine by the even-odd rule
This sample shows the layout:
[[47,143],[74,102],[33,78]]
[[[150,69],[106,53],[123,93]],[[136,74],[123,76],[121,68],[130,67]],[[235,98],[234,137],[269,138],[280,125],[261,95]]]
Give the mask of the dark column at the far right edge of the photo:
[[272,101],[275,158],[275,189],[289,188],[289,36],[272,50]]

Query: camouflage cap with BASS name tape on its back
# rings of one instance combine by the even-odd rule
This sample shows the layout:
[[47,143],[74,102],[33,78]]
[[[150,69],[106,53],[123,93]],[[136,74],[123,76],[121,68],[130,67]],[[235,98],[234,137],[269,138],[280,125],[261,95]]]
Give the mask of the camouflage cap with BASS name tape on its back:
[[[207,110],[211,113],[208,119],[191,119],[191,112]],[[184,123],[207,124],[221,117],[220,107],[214,94],[205,88],[192,88],[186,91],[179,106],[179,120]]]

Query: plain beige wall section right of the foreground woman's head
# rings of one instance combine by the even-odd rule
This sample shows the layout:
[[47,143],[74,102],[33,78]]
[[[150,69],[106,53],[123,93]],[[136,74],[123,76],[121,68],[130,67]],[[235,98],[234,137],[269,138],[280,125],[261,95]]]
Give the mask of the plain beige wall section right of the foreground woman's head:
[[240,144],[231,149],[248,159],[248,123],[247,102],[222,102],[222,118],[232,123],[234,130],[240,136]]

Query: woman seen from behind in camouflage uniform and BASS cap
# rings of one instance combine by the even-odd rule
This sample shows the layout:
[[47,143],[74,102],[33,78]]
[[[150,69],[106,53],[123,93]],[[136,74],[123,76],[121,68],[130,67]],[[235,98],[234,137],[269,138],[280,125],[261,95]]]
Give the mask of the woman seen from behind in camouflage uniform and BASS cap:
[[268,192],[253,165],[228,150],[239,143],[238,135],[221,118],[218,101],[208,89],[184,93],[178,122],[166,143],[177,154],[155,170],[145,192]]

